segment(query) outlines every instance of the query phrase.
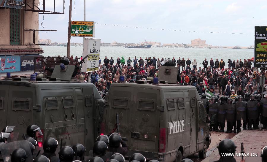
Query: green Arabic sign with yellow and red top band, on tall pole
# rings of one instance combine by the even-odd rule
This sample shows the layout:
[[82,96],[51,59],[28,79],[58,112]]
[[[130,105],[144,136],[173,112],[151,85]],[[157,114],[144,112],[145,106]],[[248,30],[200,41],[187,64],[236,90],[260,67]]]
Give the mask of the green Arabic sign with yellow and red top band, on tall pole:
[[95,37],[95,22],[71,21],[71,36]]

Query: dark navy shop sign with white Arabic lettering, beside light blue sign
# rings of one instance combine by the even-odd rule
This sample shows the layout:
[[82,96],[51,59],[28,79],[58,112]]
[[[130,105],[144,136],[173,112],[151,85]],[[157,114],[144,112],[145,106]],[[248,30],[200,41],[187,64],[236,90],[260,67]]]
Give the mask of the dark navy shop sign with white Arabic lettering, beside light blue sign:
[[20,57],[20,71],[34,70],[34,58],[42,57],[42,55],[31,55]]

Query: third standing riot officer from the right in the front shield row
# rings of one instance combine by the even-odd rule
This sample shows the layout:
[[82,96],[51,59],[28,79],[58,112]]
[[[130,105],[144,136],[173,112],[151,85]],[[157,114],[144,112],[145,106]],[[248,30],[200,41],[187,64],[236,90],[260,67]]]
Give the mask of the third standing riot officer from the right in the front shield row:
[[242,96],[236,97],[236,133],[241,131],[241,119],[243,120],[243,128],[244,130],[247,129],[247,118],[246,118],[246,110],[247,110],[247,103],[243,101]]

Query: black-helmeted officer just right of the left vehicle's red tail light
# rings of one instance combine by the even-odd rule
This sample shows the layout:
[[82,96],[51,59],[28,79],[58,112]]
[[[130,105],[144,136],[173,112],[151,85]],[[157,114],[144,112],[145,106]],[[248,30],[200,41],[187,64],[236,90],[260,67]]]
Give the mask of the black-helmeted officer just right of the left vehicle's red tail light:
[[42,155],[46,156],[51,160],[53,156],[56,156],[55,151],[57,150],[58,147],[58,141],[54,138],[47,138],[45,139],[43,143],[43,149],[44,153]]

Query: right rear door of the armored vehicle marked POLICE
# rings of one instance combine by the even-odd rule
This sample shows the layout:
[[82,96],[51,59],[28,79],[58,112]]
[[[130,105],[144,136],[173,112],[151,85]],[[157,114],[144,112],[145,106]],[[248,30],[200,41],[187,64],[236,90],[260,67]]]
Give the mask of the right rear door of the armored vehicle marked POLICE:
[[131,150],[158,153],[160,93],[157,89],[136,87],[131,122]]

